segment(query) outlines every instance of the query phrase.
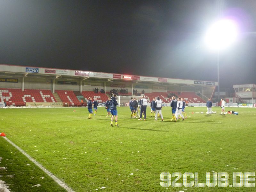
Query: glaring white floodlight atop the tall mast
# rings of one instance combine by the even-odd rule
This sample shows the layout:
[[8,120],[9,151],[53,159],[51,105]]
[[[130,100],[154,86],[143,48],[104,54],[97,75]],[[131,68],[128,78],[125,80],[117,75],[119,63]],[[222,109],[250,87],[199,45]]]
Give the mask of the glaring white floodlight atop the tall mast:
[[238,36],[238,27],[233,20],[220,20],[206,32],[205,43],[212,50],[223,50],[233,44]]

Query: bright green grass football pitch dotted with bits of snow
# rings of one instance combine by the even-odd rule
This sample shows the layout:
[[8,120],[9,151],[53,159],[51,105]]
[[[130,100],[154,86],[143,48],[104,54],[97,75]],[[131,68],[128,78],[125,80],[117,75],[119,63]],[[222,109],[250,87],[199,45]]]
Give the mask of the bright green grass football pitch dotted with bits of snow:
[[[92,119],[87,108],[0,109],[0,132],[77,192],[256,191],[244,180],[242,187],[230,186],[234,172],[244,178],[256,172],[256,108],[226,108],[239,115],[224,116],[218,107],[212,115],[206,107],[187,107],[188,118],[178,122],[170,121],[170,107],[162,110],[164,122],[150,118],[150,108],[147,121],[131,119],[128,107],[117,110],[119,127],[110,126],[105,108]],[[11,191],[65,191],[3,137],[0,147],[0,179]],[[160,180],[164,172],[171,182]],[[192,187],[184,183],[187,172]],[[195,187],[197,173],[206,183],[208,172],[211,183],[214,174],[227,173],[228,186]],[[255,175],[250,178],[255,185]]]

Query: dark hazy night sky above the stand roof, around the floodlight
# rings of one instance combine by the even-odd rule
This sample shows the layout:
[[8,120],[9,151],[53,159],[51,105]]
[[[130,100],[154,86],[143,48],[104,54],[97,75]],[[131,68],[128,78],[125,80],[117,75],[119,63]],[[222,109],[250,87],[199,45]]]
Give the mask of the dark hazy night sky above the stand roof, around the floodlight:
[[0,63],[217,81],[204,34],[223,17],[239,39],[220,52],[220,90],[256,83],[256,1],[0,0]]

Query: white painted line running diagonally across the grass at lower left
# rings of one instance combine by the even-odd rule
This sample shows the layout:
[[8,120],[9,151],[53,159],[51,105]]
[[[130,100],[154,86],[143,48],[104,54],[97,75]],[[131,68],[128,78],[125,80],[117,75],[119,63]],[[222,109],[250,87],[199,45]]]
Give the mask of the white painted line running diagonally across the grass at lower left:
[[61,187],[63,187],[64,189],[66,189],[68,192],[74,192],[70,187],[68,187],[68,185],[66,183],[64,183],[63,181],[61,181],[60,179],[58,179],[56,176],[54,176],[50,171],[48,171],[47,169],[45,169],[43,167],[43,165],[41,165],[40,163],[38,163],[35,159],[33,159],[31,156],[29,156],[25,151],[23,151],[20,147],[18,147],[17,145],[15,145],[12,141],[10,141],[9,139],[7,139],[6,137],[3,137],[5,140],[7,140],[13,147],[15,147],[16,149],[18,149],[23,155],[25,155],[26,157],[28,157],[28,159],[30,161],[32,161],[34,164],[36,164],[40,169],[42,169],[47,175],[49,175],[56,183],[58,183]]

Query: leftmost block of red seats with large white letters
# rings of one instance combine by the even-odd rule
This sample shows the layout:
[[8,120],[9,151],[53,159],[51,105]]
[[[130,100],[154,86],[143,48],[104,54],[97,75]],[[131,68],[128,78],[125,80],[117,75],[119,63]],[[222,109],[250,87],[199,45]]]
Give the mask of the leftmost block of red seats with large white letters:
[[51,90],[42,89],[0,89],[0,101],[7,105],[25,105],[26,102],[56,102]]

